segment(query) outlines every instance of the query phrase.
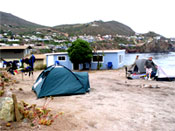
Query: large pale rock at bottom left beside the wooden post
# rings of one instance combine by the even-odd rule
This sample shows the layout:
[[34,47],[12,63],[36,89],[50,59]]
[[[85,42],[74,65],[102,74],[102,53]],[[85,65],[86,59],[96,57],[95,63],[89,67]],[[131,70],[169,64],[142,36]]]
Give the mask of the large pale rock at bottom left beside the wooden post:
[[14,121],[14,104],[11,97],[0,98],[0,119]]

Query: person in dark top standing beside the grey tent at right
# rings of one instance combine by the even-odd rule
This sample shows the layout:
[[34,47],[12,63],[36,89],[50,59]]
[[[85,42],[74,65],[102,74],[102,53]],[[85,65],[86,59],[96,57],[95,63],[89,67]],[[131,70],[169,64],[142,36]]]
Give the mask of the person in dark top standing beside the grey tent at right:
[[149,57],[148,60],[146,60],[145,68],[146,68],[146,76],[148,77],[148,80],[151,80],[151,73],[153,69],[157,68],[157,65],[155,65],[154,62],[152,61],[152,57]]

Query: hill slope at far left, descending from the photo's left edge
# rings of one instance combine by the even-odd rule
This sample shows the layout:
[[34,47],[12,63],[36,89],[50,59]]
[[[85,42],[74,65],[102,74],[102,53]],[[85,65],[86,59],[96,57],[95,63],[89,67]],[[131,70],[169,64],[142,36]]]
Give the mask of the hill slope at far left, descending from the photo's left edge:
[[36,28],[43,28],[45,26],[26,21],[22,18],[14,16],[10,13],[0,11],[0,29],[11,30],[12,32],[28,32]]

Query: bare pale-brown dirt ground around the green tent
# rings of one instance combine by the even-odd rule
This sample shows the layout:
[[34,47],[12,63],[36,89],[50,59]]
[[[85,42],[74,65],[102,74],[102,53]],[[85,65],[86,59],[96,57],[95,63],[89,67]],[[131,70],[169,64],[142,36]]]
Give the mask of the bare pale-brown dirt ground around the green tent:
[[[33,79],[16,75],[19,84],[11,86],[18,101],[42,106],[31,90]],[[63,111],[51,126],[31,127],[20,122],[14,131],[174,131],[175,82],[128,80],[124,69],[90,71],[91,91],[83,95],[54,97],[49,104],[53,113]],[[149,88],[148,85],[159,88]],[[22,88],[23,91],[20,91]],[[8,129],[7,129],[8,130]]]

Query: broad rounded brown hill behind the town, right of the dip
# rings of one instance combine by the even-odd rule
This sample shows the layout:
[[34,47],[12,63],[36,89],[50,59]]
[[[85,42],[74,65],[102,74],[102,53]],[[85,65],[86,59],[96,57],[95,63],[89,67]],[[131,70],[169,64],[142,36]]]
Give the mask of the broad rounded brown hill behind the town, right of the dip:
[[59,25],[53,27],[69,35],[134,35],[135,32],[128,26],[117,21],[94,21],[85,24]]

